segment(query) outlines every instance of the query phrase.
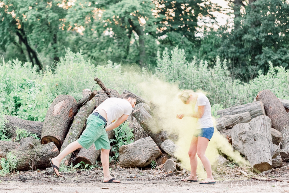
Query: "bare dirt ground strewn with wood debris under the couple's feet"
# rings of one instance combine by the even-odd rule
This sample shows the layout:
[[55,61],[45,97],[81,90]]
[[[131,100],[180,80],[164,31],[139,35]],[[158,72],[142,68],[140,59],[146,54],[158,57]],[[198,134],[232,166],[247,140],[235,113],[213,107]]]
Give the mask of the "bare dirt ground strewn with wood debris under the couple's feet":
[[[223,167],[214,172],[216,184],[199,184],[180,181],[189,171],[183,170],[174,176],[165,177],[161,169],[122,169],[115,166],[111,175],[122,182],[102,183],[101,169],[63,173],[64,177],[50,175],[49,171],[28,171],[0,177],[0,192],[54,193],[54,192],[100,192],[100,193],[153,193],[153,192],[289,192],[289,167],[273,170],[263,175],[252,176],[262,181],[248,179],[238,172],[240,168]],[[249,172],[248,172],[249,173]],[[275,181],[268,179],[283,180]],[[201,179],[199,179],[201,180]]]

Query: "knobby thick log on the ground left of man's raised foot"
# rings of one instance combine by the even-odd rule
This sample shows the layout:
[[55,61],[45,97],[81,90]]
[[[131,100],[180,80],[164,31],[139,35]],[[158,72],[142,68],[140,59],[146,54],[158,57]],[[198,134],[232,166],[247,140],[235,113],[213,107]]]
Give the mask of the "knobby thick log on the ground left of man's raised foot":
[[54,158],[59,154],[54,143],[40,144],[40,141],[27,137],[20,140],[20,146],[11,151],[18,160],[16,170],[27,171],[45,169],[51,167],[49,158]]

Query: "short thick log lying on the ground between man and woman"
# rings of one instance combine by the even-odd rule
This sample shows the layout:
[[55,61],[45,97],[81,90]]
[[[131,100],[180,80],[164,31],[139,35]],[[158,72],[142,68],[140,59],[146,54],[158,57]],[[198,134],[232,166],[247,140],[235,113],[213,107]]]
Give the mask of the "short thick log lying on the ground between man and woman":
[[151,137],[139,139],[119,148],[121,167],[145,167],[161,155],[161,150]]

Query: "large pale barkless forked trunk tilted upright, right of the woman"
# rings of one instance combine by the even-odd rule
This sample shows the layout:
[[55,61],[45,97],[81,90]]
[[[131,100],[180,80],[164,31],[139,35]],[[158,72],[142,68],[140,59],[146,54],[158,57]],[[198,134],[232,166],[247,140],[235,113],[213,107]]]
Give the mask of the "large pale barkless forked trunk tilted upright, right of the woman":
[[272,143],[269,117],[261,115],[249,123],[238,123],[231,129],[231,139],[233,148],[248,158],[253,170],[272,169],[272,158],[280,149]]

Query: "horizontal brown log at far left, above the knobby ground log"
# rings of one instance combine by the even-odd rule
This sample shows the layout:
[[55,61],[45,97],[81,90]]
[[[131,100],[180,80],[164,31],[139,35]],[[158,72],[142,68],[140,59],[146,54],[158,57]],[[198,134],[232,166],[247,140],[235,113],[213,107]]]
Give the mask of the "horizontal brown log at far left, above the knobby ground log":
[[16,135],[15,131],[17,128],[25,129],[27,132],[31,132],[32,134],[36,134],[38,137],[41,137],[43,122],[28,121],[9,115],[5,115],[4,118],[8,121],[5,123],[5,127],[6,132],[8,135],[10,135],[10,137],[14,137]]

